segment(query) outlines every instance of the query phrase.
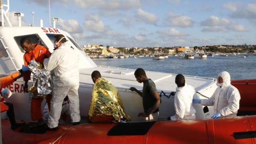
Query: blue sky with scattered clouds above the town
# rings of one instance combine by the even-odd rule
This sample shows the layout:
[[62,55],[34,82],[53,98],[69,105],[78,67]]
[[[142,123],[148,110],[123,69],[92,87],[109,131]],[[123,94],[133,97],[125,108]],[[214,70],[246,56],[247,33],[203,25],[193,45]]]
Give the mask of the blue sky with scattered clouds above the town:
[[[3,0],[6,4],[6,0]],[[256,0],[10,0],[22,26],[68,31],[80,46],[173,47],[256,45]]]

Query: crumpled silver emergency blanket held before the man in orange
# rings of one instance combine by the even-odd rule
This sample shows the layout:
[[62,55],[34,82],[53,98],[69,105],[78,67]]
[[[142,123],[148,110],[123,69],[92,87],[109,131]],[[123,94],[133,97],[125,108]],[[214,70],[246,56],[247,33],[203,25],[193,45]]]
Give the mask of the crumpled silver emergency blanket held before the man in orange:
[[46,98],[53,90],[54,71],[40,69],[41,64],[34,59],[29,62],[29,70],[33,73],[33,84],[29,88],[33,98]]

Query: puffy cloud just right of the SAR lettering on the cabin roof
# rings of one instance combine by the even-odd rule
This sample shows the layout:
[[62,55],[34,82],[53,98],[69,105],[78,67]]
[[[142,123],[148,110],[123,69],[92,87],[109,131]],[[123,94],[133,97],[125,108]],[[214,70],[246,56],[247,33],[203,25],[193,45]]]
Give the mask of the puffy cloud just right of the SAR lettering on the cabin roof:
[[82,33],[83,29],[77,22],[77,20],[63,20],[59,18],[57,25],[60,26],[62,30],[68,33]]

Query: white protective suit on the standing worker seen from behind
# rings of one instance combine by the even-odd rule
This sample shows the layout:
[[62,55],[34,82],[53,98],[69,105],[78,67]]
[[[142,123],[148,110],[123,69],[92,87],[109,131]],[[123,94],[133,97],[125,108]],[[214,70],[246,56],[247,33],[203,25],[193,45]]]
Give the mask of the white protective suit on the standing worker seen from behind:
[[78,60],[78,55],[74,48],[71,48],[70,41],[62,43],[59,48],[53,51],[49,59],[44,59],[44,68],[47,71],[54,69],[55,73],[50,117],[48,119],[48,127],[50,128],[58,126],[62,102],[67,95],[70,102],[71,120],[72,122],[80,121]]

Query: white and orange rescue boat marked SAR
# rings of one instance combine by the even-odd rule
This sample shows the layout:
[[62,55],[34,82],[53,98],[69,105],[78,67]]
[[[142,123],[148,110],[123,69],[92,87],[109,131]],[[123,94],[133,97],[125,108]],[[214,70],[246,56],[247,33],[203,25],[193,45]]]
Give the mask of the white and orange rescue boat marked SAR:
[[[7,9],[3,9],[7,6]],[[142,99],[137,93],[129,90],[136,87],[142,90],[135,77],[133,69],[114,68],[108,66],[98,66],[91,58],[79,47],[77,42],[66,31],[58,28],[17,26],[12,27],[8,20],[9,0],[7,5],[1,3],[2,26],[0,27],[0,77],[8,76],[22,68],[24,50],[21,48],[20,40],[22,37],[29,37],[32,43],[44,45],[53,52],[54,35],[63,34],[70,40],[79,55],[79,100],[80,115],[85,121],[91,101],[91,92],[94,83],[91,80],[91,73],[95,70],[100,71],[102,77],[110,81],[118,88],[125,111],[131,117],[131,122],[127,124],[82,124],[72,126],[60,124],[59,130],[46,131],[44,134],[20,133],[22,128],[10,129],[10,123],[6,120],[6,113],[1,113],[2,137],[5,144],[35,144],[35,143],[255,143],[253,125],[256,116],[239,116],[235,118],[209,119],[213,113],[213,107],[203,107],[194,104],[197,110],[197,120],[187,121],[166,121],[168,116],[175,114],[174,96],[171,92],[175,91],[175,76],[173,73],[161,73],[146,71],[147,76],[154,81],[156,88],[161,96],[162,104],[159,107],[159,121],[141,122],[143,118],[138,118],[138,112],[143,111]],[[19,14],[18,14],[19,15]],[[4,25],[4,20],[8,26]],[[185,76],[186,83],[192,85],[199,93],[199,98],[209,98],[217,88],[215,78]],[[255,79],[247,80],[254,84],[244,85],[238,81],[232,81],[241,85],[236,85],[241,93],[241,103],[244,111],[255,110],[253,101],[255,100],[253,90],[255,89]],[[247,82],[248,83],[248,82]],[[32,85],[32,80],[28,85]],[[32,122],[30,116],[30,103],[32,93],[25,93],[23,90],[24,81],[18,79],[8,86],[12,91],[12,96],[6,99],[11,102],[15,109],[15,118],[20,121]],[[250,88],[250,94],[247,93]],[[246,93],[246,94],[244,94]],[[245,98],[243,98],[245,96]],[[255,104],[254,104],[255,105]],[[42,104],[42,110],[44,105]],[[234,126],[235,125],[235,126]],[[247,133],[249,132],[249,133]],[[246,137],[246,138],[245,138]]]

